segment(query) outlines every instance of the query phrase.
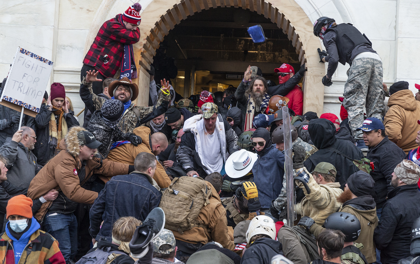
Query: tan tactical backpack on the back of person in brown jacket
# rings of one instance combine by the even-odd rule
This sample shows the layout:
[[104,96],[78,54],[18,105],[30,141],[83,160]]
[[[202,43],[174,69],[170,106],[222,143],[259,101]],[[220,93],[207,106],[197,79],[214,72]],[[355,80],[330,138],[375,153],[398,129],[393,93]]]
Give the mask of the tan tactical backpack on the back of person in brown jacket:
[[174,178],[163,192],[159,207],[165,212],[165,228],[179,233],[202,226],[198,214],[210,203],[212,192],[202,178],[182,176]]

